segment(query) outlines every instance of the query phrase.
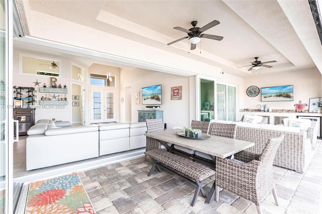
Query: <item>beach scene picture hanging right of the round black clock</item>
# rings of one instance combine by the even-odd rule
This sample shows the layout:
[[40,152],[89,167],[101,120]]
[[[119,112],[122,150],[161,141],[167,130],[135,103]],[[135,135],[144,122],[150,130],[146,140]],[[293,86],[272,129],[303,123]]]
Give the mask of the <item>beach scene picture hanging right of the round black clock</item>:
[[293,85],[261,88],[262,101],[292,101]]

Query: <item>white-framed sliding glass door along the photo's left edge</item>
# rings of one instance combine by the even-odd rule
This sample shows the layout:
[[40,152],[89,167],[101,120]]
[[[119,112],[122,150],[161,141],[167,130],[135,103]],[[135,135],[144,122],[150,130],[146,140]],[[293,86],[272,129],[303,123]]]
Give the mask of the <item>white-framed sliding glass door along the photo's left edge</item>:
[[[13,213],[12,1],[0,0],[0,212]],[[11,104],[11,105],[9,105]]]

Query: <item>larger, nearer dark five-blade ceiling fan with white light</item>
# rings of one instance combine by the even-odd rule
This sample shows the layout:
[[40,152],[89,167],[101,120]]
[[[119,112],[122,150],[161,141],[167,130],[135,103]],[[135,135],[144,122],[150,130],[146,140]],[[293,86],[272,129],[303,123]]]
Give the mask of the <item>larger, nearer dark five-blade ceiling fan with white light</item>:
[[201,38],[206,38],[206,39],[213,39],[213,40],[222,40],[223,37],[222,36],[215,36],[215,35],[210,35],[210,34],[201,34],[204,31],[208,30],[209,28],[212,28],[218,24],[220,24],[219,21],[214,20],[210,23],[208,23],[207,25],[203,26],[202,28],[196,27],[197,25],[197,21],[192,21],[191,25],[193,26],[192,28],[190,28],[189,30],[186,30],[184,28],[181,27],[174,27],[174,29],[179,30],[179,31],[183,31],[185,33],[188,34],[188,36],[183,37],[181,39],[177,39],[173,42],[168,43],[167,45],[172,45],[173,43],[179,42],[181,40],[187,39],[189,38],[189,43],[191,43],[191,50],[194,50],[196,48],[196,44],[198,42],[200,42]]

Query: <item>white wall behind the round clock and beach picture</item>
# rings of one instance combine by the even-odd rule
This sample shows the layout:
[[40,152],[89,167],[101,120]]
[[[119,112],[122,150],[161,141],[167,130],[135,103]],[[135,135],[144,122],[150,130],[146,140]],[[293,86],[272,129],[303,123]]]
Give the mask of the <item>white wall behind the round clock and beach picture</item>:
[[[276,73],[271,75],[254,75],[253,77],[245,78],[245,105],[240,109],[256,109],[256,105],[265,105],[273,110],[294,110],[294,104],[302,100],[302,103],[309,104],[309,98],[321,97],[321,74],[317,69],[297,70],[291,72]],[[293,101],[271,101],[262,102],[261,93],[256,97],[249,97],[246,94],[246,89],[249,86],[255,85],[261,87],[293,85],[294,100]],[[306,108],[308,110],[308,107]]]

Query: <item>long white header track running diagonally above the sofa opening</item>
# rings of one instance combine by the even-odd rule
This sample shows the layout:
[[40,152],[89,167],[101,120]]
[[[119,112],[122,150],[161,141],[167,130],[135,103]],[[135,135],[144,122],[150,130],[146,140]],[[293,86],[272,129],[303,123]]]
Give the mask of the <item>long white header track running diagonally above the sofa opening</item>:
[[126,57],[121,57],[121,56],[116,56],[108,53],[103,53],[99,51],[94,51],[90,49],[85,49],[81,47],[76,47],[76,46],[71,46],[67,44],[62,44],[62,43],[57,43],[53,41],[48,41],[48,40],[43,40],[39,38],[34,38],[34,37],[17,37],[14,38],[14,41],[19,41],[19,42],[25,42],[29,44],[35,44],[35,45],[40,45],[44,47],[50,47],[50,48],[56,48],[59,50],[64,50],[64,51],[69,51],[72,53],[78,53],[78,54],[84,54],[88,56],[95,56],[95,57],[100,57],[116,62],[120,62],[129,66],[135,66],[139,68],[144,68],[144,69],[150,69],[150,70],[155,70],[155,71],[160,71],[160,72],[165,72],[165,73],[172,73],[172,74],[177,74],[181,76],[194,76],[195,73],[177,69],[177,68],[171,68],[163,65],[157,65],[153,63],[148,63],[144,61],[139,61],[139,60],[134,60]]

